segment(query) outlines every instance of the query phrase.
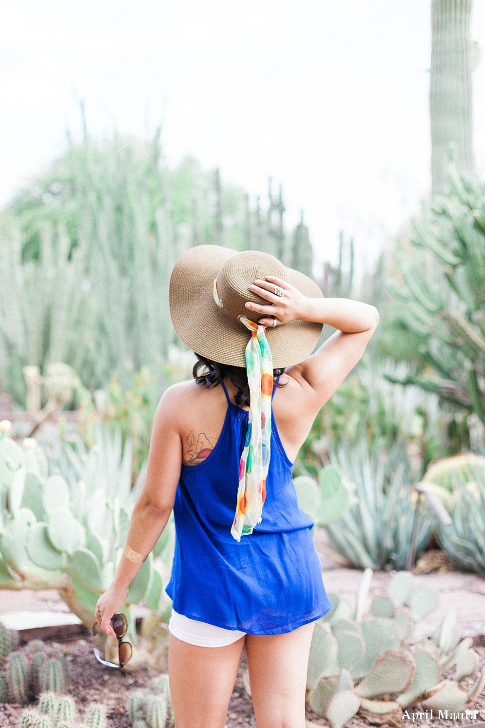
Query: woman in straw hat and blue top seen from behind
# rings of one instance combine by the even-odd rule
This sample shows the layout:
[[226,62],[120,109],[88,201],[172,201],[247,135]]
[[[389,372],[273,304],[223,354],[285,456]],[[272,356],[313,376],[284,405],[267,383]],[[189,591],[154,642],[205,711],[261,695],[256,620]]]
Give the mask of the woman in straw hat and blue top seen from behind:
[[[292,462],[361,358],[377,310],[322,298],[265,253],[201,245],[175,264],[170,311],[199,357],[196,381],[161,397],[145,485],[97,621],[114,636],[110,618],[173,508],[176,727],[224,727],[245,647],[259,728],[304,728],[313,625],[331,604]],[[324,323],[337,331],[311,355]]]

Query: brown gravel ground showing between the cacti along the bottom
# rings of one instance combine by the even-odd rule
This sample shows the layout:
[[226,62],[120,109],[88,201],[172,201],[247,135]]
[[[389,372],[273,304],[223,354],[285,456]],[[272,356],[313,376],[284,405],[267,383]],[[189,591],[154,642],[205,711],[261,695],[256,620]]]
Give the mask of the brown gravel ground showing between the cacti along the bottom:
[[[92,654],[92,640],[79,639],[66,643],[66,649],[69,654],[66,658],[69,670],[69,692],[76,699],[79,713],[84,713],[87,705],[92,702],[105,703],[108,708],[108,726],[109,728],[131,728],[129,716],[127,713],[127,697],[130,689],[144,687],[151,678],[156,677],[159,673],[152,670],[139,670],[136,673],[124,673],[120,670],[110,670],[104,668],[95,660]],[[485,647],[475,647],[480,655],[479,670],[485,665]],[[254,719],[254,711],[252,708],[252,700],[247,695],[241,673],[246,668],[246,660],[243,655],[241,665],[239,667],[239,676],[234,687],[233,697],[228,710],[227,727],[228,728],[257,728]],[[445,673],[446,674],[446,673]],[[470,686],[475,676],[467,678],[465,683]],[[485,693],[480,698],[468,706],[470,710],[478,710],[478,721],[485,721]],[[20,725],[20,713],[22,708],[20,705],[0,704],[0,727],[7,726],[18,727]],[[311,711],[307,713],[308,721],[318,726],[328,726],[325,719],[319,718]],[[416,720],[413,727],[420,728],[423,726],[446,726],[453,728],[454,726],[462,726],[473,724],[478,721],[444,721],[435,719]],[[409,721],[409,724],[411,721]],[[382,728],[397,728],[406,726],[407,721],[403,722],[398,718],[393,725],[384,724]],[[369,721],[356,716],[347,724],[347,728],[369,728]]]

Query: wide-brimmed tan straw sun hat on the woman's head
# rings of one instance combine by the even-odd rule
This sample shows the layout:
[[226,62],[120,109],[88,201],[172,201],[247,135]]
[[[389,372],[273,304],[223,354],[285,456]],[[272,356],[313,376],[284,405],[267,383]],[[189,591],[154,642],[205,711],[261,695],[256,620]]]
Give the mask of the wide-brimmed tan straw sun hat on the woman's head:
[[[269,301],[249,290],[254,280],[265,280],[267,276],[281,278],[309,298],[322,297],[315,281],[286,268],[268,253],[236,253],[219,245],[197,245],[186,250],[170,278],[170,314],[179,339],[207,359],[245,368],[244,349],[251,334],[238,317],[252,321],[262,318],[244,304],[252,301],[269,305]],[[222,307],[215,301],[215,281]],[[321,323],[300,320],[268,328],[273,367],[284,368],[308,357],[316,347],[321,328]]]

